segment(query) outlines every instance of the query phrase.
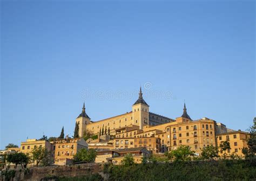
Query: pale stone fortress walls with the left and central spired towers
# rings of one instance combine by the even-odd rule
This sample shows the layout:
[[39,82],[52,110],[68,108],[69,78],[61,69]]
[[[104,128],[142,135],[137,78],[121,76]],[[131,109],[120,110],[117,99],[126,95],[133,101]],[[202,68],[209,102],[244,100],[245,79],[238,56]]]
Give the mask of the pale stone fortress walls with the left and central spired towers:
[[86,131],[91,134],[99,134],[102,128],[110,129],[110,135],[115,135],[116,129],[123,127],[138,126],[139,129],[143,129],[146,125],[158,125],[174,121],[168,117],[150,113],[149,105],[147,105],[142,95],[142,89],[140,88],[139,98],[132,105],[131,112],[96,122],[91,121],[90,117],[86,114],[84,105],[82,113],[80,113],[76,119],[76,123],[79,127],[79,137],[82,137]]

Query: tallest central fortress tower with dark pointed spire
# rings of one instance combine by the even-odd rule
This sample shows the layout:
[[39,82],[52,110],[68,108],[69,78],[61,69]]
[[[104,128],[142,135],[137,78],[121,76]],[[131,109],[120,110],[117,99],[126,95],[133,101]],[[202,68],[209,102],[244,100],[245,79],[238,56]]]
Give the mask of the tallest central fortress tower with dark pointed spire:
[[142,87],[139,89],[139,99],[132,105],[132,124],[139,126],[149,125],[149,105],[142,97]]

